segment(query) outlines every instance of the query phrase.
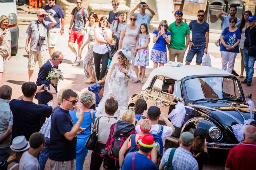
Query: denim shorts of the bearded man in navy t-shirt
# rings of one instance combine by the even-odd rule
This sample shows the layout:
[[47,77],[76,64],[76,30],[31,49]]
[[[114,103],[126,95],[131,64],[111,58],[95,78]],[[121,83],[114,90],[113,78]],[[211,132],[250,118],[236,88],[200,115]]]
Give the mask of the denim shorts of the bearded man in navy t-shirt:
[[202,58],[204,54],[205,46],[201,47],[191,47],[191,50],[187,52],[186,62],[191,63],[192,59],[194,58],[195,54],[197,54],[197,60],[195,61],[197,64],[202,63]]

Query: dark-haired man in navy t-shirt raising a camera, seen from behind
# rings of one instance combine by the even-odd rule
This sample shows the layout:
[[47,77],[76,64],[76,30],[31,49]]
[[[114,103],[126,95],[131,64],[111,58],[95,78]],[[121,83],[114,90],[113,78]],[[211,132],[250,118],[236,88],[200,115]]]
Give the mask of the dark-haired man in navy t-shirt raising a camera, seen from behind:
[[23,83],[21,86],[23,95],[10,101],[10,109],[13,113],[11,141],[20,135],[24,135],[28,141],[31,134],[39,132],[41,117],[49,117],[53,109],[58,106],[57,92],[51,84],[47,93],[53,97],[53,105],[38,105],[33,102],[36,94],[46,91],[44,86],[45,84],[37,86],[33,82]]

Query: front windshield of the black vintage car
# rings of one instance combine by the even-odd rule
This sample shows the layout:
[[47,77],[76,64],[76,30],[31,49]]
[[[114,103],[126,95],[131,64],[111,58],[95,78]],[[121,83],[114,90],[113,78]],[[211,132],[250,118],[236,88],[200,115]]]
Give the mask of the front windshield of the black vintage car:
[[193,78],[185,81],[185,87],[190,102],[204,99],[216,99],[216,101],[221,99],[243,99],[238,82],[233,78]]

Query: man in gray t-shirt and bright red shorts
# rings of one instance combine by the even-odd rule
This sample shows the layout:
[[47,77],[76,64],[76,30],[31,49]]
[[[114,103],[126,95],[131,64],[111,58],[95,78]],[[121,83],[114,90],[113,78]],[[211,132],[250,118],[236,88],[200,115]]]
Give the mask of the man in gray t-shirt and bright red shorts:
[[[73,66],[80,65],[80,59],[82,54],[80,48],[83,44],[83,37],[85,35],[86,28],[89,25],[89,22],[86,22],[89,18],[89,14],[88,11],[84,7],[82,7],[82,0],[76,0],[76,3],[77,7],[75,7],[71,12],[72,18],[69,27],[69,48],[75,54],[75,61],[73,63]],[[76,40],[78,53],[73,47],[73,44]]]

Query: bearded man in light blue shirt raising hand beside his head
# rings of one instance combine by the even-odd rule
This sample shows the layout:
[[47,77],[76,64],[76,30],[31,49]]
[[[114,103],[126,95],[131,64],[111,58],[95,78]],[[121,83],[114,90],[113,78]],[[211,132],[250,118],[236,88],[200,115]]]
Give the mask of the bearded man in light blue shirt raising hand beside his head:
[[[225,28],[230,26],[229,19],[232,16],[235,16],[236,13],[237,13],[237,6],[231,5],[230,8],[229,8],[229,14],[227,14],[227,12],[221,11],[216,15],[222,22],[221,34],[222,34],[222,32],[224,31]],[[235,26],[238,27],[240,23],[241,23],[240,19],[237,18],[237,23],[235,24]],[[235,76],[239,76],[239,74],[237,74],[234,70],[234,65],[233,65],[233,70],[232,70],[231,73],[234,74]]]

